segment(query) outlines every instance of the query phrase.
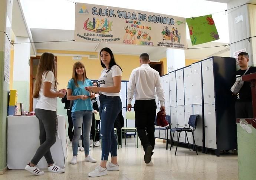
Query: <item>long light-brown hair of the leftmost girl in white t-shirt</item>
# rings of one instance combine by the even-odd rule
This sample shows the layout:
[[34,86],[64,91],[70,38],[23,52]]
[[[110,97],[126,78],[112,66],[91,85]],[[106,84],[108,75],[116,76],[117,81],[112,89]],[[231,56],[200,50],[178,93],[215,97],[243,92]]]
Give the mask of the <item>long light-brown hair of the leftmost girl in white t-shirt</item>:
[[46,75],[47,75],[48,71],[52,71],[54,74],[55,88],[56,88],[56,84],[59,84],[59,83],[57,82],[57,78],[56,78],[55,57],[52,53],[43,53],[42,56],[40,57],[39,65],[37,67],[36,83],[35,83],[33,98],[39,97],[43,73],[46,72]]

